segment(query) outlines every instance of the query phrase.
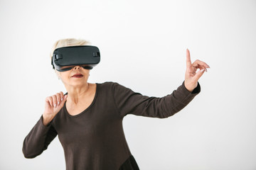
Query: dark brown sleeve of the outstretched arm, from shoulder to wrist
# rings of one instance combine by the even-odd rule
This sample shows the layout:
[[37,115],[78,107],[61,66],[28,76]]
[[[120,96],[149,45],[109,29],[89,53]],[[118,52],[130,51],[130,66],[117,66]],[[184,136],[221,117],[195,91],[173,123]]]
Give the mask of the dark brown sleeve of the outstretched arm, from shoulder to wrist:
[[134,114],[153,118],[168,118],[181,111],[200,91],[199,83],[196,89],[190,92],[183,81],[172,94],[156,98],[142,96],[117,83],[112,86],[112,96],[120,115]]

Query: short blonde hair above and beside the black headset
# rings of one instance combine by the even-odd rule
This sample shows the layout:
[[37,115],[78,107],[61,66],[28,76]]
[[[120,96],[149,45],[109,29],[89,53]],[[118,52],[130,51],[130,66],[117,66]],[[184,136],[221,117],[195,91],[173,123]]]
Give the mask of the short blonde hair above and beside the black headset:
[[68,46],[78,46],[78,45],[91,45],[90,41],[82,40],[82,39],[75,39],[75,38],[66,38],[56,41],[53,44],[53,48],[50,52],[50,60],[53,57],[53,52],[56,48],[59,47],[68,47]]

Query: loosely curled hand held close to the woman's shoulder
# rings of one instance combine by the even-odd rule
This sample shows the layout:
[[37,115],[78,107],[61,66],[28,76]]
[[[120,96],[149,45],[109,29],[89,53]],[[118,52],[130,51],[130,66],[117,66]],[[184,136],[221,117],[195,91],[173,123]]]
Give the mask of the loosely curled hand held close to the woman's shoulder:
[[48,125],[48,123],[53,120],[55,115],[63,108],[67,98],[68,94],[64,96],[62,91],[46,98],[45,111],[43,112],[43,125]]

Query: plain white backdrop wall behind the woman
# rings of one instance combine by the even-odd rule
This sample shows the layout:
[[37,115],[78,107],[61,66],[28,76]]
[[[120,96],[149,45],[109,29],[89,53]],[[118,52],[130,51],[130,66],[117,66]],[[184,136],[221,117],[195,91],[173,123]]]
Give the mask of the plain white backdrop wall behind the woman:
[[56,40],[100,48],[89,82],[171,94],[192,62],[210,65],[201,94],[166,119],[127,115],[140,169],[256,169],[256,1],[0,1],[0,169],[65,169],[58,137],[35,159],[23,140],[45,99],[65,91],[50,64]]

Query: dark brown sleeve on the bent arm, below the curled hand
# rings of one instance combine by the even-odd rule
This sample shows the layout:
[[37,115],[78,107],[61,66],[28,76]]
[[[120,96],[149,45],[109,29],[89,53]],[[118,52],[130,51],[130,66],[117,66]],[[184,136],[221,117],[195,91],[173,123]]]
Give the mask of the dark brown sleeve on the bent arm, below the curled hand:
[[43,116],[38,120],[33,129],[23,141],[23,154],[26,158],[34,158],[47,149],[50,142],[56,137],[57,132],[52,123],[43,125]]

